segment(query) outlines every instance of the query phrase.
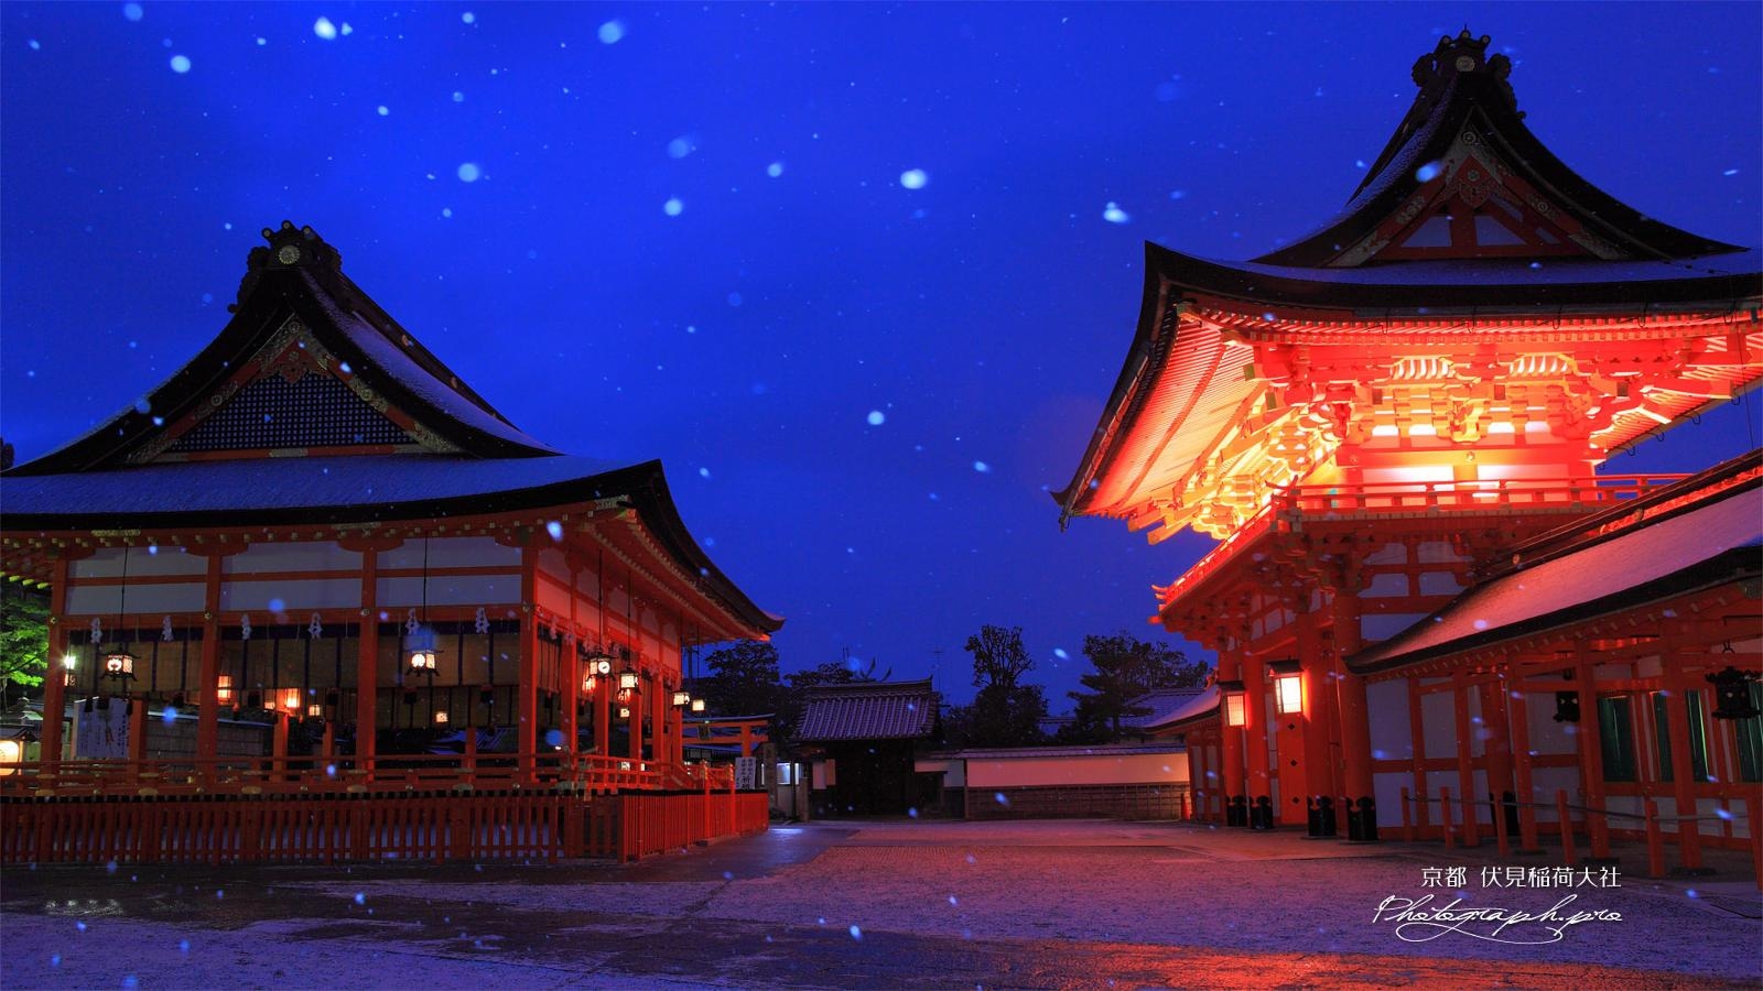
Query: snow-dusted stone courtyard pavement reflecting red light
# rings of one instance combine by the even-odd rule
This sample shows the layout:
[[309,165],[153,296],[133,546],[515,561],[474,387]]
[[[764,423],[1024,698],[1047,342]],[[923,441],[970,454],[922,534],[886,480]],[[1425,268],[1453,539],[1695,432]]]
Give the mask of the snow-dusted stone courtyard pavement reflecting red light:
[[[1513,864],[1553,866],[1544,857]],[[779,827],[642,864],[42,868],[0,876],[12,987],[1703,987],[1763,977],[1715,878],[1484,887],[1493,848],[1120,822]],[[1507,864],[1511,866],[1511,864]],[[1463,868],[1460,889],[1425,876]],[[1446,931],[1384,899],[1620,913]],[[1393,913],[1393,910],[1391,910]],[[1558,928],[1558,924],[1557,924]],[[132,979],[132,984],[130,984]]]

